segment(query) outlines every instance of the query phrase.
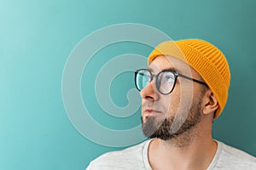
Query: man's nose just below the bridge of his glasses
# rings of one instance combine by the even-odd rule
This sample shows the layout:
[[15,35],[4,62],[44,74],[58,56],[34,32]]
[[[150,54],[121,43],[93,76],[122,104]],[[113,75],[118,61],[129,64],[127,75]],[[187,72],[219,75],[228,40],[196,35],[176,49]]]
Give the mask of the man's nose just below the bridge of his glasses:
[[140,94],[142,99],[146,99],[149,101],[155,101],[159,99],[159,94],[154,84],[155,82],[153,80],[152,82],[149,82],[147,86],[141,90]]

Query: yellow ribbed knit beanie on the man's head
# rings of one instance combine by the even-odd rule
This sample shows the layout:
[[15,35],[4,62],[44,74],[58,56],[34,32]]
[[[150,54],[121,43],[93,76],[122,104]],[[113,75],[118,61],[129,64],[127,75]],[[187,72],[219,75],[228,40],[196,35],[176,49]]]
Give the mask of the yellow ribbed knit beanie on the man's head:
[[218,100],[214,118],[218,117],[227,102],[230,87],[230,67],[224,54],[211,43],[199,39],[168,41],[154,48],[148,65],[161,54],[182,59],[201,75]]

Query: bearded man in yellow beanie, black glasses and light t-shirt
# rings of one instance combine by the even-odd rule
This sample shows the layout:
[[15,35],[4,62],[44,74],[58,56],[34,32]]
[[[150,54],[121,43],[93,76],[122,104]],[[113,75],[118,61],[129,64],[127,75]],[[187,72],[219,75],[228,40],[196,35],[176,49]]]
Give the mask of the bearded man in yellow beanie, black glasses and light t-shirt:
[[162,42],[135,71],[142,130],[149,138],[91,161],[90,169],[256,169],[256,158],[212,139],[224,110],[230,68],[224,54],[199,39]]

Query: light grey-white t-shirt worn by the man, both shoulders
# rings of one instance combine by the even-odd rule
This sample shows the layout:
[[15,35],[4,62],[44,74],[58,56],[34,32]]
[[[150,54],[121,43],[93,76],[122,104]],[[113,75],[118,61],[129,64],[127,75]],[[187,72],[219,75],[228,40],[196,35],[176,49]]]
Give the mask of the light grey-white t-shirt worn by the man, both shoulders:
[[[86,170],[151,170],[148,163],[148,145],[151,140],[125,150],[112,151],[91,161]],[[207,170],[256,170],[256,158],[222,142]]]

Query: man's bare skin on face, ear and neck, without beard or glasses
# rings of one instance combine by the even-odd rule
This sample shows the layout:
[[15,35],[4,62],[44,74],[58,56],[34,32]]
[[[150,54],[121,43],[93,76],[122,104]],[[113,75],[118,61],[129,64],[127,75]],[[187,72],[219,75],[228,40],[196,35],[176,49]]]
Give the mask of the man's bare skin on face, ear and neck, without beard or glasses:
[[[153,74],[170,68],[202,81],[201,76],[193,68],[182,60],[170,56],[158,56],[148,66]],[[150,142],[148,161],[152,169],[207,169],[217,150],[217,143],[212,140],[212,121],[214,112],[218,109],[218,101],[212,90],[207,88],[202,93],[201,84],[178,77],[171,94],[160,94],[155,88],[154,80],[148,83],[140,94],[143,123],[150,117],[154,117],[155,122],[163,122],[165,118],[175,116],[183,117],[185,120],[187,115],[191,114],[190,106],[195,107],[193,104],[199,105],[201,114],[200,121],[189,130],[170,139],[156,138]]]

